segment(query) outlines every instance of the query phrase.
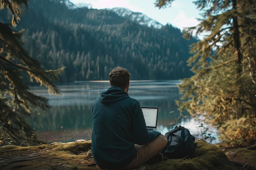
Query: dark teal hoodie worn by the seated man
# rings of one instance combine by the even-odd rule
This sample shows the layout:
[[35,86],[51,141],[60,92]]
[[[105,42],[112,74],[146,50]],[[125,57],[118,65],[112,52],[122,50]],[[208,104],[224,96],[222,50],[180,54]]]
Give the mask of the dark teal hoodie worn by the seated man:
[[92,156],[103,169],[127,166],[137,155],[134,144],[147,144],[161,133],[148,131],[136,99],[112,86],[92,106]]

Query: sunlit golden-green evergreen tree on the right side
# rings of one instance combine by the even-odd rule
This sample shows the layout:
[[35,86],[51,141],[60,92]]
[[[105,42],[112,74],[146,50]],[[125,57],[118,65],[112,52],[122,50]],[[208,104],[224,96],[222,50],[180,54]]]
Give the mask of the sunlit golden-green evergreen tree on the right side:
[[[158,0],[157,7],[170,4]],[[197,0],[200,24],[186,28],[206,34],[191,45],[189,65],[195,75],[182,79],[181,111],[203,116],[219,130],[219,139],[233,146],[256,142],[256,0]]]

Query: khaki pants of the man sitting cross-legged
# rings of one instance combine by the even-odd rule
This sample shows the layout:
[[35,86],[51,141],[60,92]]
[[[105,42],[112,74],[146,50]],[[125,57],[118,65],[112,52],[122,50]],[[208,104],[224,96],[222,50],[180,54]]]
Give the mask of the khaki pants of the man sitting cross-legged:
[[167,139],[164,135],[159,135],[153,141],[145,145],[137,145],[134,147],[137,150],[137,156],[128,164],[128,166],[121,168],[122,170],[130,170],[137,168],[148,161],[153,156],[161,152],[167,144]]

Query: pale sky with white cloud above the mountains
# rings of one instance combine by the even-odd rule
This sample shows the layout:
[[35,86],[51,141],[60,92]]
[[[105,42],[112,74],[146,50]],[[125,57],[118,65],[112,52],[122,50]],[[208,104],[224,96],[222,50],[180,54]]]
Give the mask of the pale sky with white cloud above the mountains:
[[174,0],[171,7],[155,7],[156,0],[70,0],[74,4],[92,4],[94,9],[124,7],[133,12],[141,12],[149,18],[157,20],[166,25],[171,24],[179,29],[184,27],[196,26],[200,18],[199,11],[196,9],[193,0]]

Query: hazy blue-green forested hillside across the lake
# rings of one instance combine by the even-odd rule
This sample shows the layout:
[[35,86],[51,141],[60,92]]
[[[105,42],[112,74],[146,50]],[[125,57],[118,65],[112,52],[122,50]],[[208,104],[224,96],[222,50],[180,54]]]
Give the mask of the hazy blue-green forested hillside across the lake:
[[[0,22],[10,23],[7,10],[0,16]],[[66,66],[61,82],[106,80],[117,65],[128,68],[132,79],[192,75],[186,60],[195,40],[185,40],[171,25],[156,29],[107,9],[70,9],[61,0],[30,0],[13,29],[25,29],[24,47],[44,69]]]

